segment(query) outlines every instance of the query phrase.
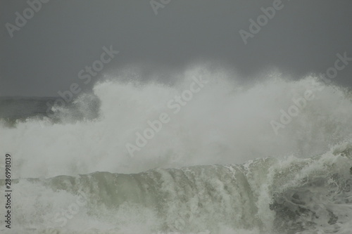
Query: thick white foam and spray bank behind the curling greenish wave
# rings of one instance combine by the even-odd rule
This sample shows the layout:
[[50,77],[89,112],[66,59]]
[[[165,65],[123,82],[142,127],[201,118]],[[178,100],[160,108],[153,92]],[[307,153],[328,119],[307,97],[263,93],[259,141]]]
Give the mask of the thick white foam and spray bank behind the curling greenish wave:
[[[351,99],[346,91],[326,86],[317,77],[290,81],[273,74],[244,85],[235,74],[202,66],[178,76],[172,86],[118,82],[113,77],[96,84],[99,117],[89,112],[86,119],[73,121],[61,110],[57,113],[61,122],[44,118],[18,122],[15,128],[1,125],[1,148],[14,157],[15,176],[132,173],[155,167],[234,164],[268,156],[310,157],[351,136]],[[168,102],[189,90],[194,79],[208,83],[175,113]],[[294,105],[292,99],[307,90],[315,98],[276,135],[270,122],[279,122],[280,110],[287,112]],[[75,101],[74,110],[85,115],[93,100],[85,94]],[[142,134],[149,128],[147,122],[163,112],[170,122],[131,157],[126,144],[136,145],[136,133]]]

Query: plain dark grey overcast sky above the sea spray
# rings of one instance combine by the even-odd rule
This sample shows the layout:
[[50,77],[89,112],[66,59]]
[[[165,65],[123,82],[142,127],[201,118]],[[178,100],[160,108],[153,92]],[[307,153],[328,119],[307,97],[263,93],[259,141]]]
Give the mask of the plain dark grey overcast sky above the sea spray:
[[[149,0],[51,0],[18,27],[15,13],[31,13],[27,1],[1,0],[0,96],[58,96],[73,82],[82,84],[78,73],[101,59],[103,46],[120,53],[98,76],[139,64],[145,79],[198,60],[231,67],[244,79],[266,67],[301,77],[325,72],[337,53],[352,57],[350,0],[282,0],[275,16],[244,44],[239,30],[250,32],[249,20],[274,2],[171,0],[156,15]],[[165,82],[172,79],[167,74]],[[335,80],[352,86],[351,75],[352,62]]]

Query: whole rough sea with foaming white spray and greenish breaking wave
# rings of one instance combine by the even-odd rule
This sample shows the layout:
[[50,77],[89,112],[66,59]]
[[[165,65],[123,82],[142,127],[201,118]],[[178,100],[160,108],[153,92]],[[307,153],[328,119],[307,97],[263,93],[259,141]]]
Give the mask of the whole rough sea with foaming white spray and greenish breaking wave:
[[[351,233],[350,91],[313,76],[242,84],[196,67],[180,77],[172,86],[106,79],[65,107],[1,98],[13,216],[0,232]],[[207,82],[170,108],[194,79]],[[297,115],[276,134],[270,122],[294,100]],[[170,121],[131,154],[126,145],[161,113]]]

